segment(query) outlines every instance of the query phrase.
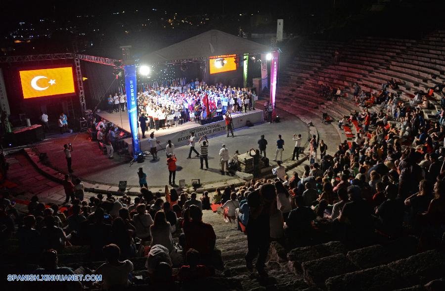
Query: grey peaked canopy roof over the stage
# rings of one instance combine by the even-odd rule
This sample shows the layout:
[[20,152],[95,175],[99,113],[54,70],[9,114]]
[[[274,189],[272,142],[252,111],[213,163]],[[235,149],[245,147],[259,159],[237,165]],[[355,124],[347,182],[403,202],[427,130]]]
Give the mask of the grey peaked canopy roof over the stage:
[[269,52],[270,47],[237,36],[209,30],[140,58],[141,63],[157,64],[208,59],[211,56],[228,54],[256,54]]

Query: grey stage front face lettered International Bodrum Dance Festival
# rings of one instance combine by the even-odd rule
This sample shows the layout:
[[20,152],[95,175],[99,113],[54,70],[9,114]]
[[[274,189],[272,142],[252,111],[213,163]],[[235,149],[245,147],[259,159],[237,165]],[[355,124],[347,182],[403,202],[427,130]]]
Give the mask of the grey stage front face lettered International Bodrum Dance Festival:
[[[253,124],[262,123],[263,111],[256,110],[255,112],[248,115],[242,115],[239,117],[234,116],[232,121],[233,121],[233,128],[240,128],[246,126],[246,121],[250,121]],[[207,135],[207,137],[210,137],[222,133],[225,134],[225,120],[207,125],[199,125],[193,128],[187,128],[161,136],[155,135],[156,139],[160,142],[158,149],[165,148],[165,146],[167,145],[167,141],[169,139],[176,147],[186,145],[188,143],[188,139],[190,138],[192,131],[195,132],[196,140],[198,140],[199,137],[203,135]],[[131,146],[132,139],[131,138],[126,139],[125,142],[129,144],[128,148],[130,151],[132,148]],[[148,139],[140,141],[139,144],[142,151],[150,150],[150,144],[148,143]],[[132,154],[132,152],[130,152],[130,154]]]

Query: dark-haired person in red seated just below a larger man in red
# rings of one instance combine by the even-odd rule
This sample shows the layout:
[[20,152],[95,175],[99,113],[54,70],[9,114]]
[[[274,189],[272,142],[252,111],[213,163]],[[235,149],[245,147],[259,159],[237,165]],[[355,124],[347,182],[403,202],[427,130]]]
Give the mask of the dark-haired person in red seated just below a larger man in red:
[[200,265],[199,252],[196,249],[189,249],[186,253],[187,265],[180,267],[178,279],[180,282],[187,282],[201,278],[207,278],[213,275],[214,271],[204,265]]

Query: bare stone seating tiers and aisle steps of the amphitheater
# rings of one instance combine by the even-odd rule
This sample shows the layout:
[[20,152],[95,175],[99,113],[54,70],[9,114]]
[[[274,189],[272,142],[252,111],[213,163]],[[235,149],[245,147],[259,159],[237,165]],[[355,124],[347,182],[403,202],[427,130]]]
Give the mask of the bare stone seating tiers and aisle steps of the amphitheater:
[[[341,53],[336,64],[332,62],[335,50]],[[397,92],[403,101],[408,102],[415,91],[425,91],[445,81],[445,31],[430,33],[420,40],[307,40],[298,47],[296,55],[281,69],[276,107],[281,112],[312,123],[319,139],[329,140],[332,144],[338,144],[347,137],[335,123],[323,124],[322,113],[326,112],[338,120],[359,110],[352,98],[354,83],[366,91],[379,90],[382,83],[395,78],[401,81]],[[320,83],[340,87],[344,97],[339,102],[326,101],[318,93]],[[438,103],[435,106],[439,106]],[[436,112],[434,109],[427,111],[427,117],[435,118]],[[352,135],[358,129],[352,128]],[[285,249],[278,242],[273,242],[267,261],[269,277],[261,279],[246,268],[247,237],[234,224],[224,223],[221,215],[212,211],[204,211],[203,220],[214,227],[216,248],[221,251],[223,266],[217,270],[215,277],[199,280],[187,290],[445,290],[444,252],[419,249],[416,237],[384,240],[360,249],[348,249],[343,243],[329,239],[297,249]],[[37,265],[14,262],[16,243],[16,239],[11,239],[9,250],[2,254],[2,274],[30,273],[37,268]],[[59,266],[95,268],[100,265],[102,262],[89,261],[87,250],[86,247],[67,247],[59,255]],[[145,258],[132,261],[135,267],[133,275],[146,277]],[[22,290],[21,287],[14,285],[6,290]],[[142,283],[129,290],[150,290],[150,287]]]

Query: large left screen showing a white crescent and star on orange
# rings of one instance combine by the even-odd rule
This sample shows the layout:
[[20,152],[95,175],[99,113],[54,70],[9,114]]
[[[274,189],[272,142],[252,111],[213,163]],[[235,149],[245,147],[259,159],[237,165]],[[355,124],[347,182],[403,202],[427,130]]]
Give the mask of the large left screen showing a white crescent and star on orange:
[[19,71],[23,98],[69,96],[76,93],[73,67]]

